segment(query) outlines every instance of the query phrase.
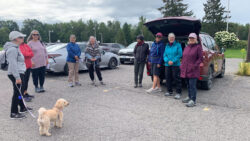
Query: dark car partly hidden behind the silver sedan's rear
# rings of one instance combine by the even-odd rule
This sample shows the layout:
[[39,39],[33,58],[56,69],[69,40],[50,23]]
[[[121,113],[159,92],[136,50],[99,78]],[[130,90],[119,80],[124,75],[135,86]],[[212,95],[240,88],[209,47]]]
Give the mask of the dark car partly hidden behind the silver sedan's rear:
[[100,46],[102,46],[102,49],[107,52],[112,52],[115,54],[118,54],[120,49],[125,48],[124,45],[119,43],[101,43]]

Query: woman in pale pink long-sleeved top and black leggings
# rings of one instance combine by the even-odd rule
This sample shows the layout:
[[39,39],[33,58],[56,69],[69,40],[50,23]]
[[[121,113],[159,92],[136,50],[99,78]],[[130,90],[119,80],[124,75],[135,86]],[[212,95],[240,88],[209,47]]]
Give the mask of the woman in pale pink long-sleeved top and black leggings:
[[[35,92],[44,92],[43,84],[45,81],[45,71],[48,65],[48,53],[45,45],[41,41],[41,36],[37,30],[33,30],[28,39],[28,45],[34,53],[32,60],[32,78],[35,85]],[[40,87],[38,86],[38,81]]]

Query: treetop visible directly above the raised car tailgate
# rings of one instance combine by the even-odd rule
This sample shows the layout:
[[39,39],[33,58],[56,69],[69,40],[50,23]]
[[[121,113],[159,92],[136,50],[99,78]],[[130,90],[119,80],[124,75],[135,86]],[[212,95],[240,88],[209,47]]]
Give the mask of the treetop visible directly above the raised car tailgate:
[[188,4],[184,4],[183,0],[163,0],[164,6],[158,10],[168,16],[192,16],[193,12],[188,11]]

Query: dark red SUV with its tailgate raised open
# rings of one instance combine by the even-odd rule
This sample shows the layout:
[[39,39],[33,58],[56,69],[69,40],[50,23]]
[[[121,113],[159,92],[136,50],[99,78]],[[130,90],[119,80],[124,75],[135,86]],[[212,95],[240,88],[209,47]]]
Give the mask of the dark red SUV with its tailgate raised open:
[[[200,65],[200,78],[198,87],[209,90],[212,87],[212,80],[215,77],[222,78],[225,73],[225,57],[223,48],[219,49],[215,40],[208,34],[200,32],[201,22],[192,17],[165,17],[145,23],[145,26],[155,35],[162,32],[164,41],[167,43],[169,33],[176,35],[176,40],[181,43],[182,49],[187,45],[188,35],[192,32],[199,35],[198,41],[203,49],[203,63]],[[163,64],[162,64],[163,66]],[[150,66],[147,65],[148,75]],[[160,78],[163,80],[164,67],[162,67]]]

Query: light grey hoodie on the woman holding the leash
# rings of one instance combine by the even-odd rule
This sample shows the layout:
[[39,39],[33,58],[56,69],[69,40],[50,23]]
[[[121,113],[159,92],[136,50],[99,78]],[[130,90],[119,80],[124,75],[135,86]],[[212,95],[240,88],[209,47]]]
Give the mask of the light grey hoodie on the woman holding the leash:
[[4,45],[6,59],[8,62],[8,75],[13,75],[16,80],[20,79],[20,74],[24,74],[26,66],[24,63],[23,54],[19,50],[19,46],[12,42],[7,42]]

